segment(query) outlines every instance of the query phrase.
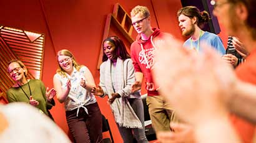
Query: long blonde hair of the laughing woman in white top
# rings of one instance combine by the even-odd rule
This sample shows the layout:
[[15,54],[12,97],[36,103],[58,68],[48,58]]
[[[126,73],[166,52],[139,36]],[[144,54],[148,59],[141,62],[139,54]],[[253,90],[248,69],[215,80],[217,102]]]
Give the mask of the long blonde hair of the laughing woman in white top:
[[[71,57],[73,67],[76,68],[77,71],[80,70],[81,65],[79,65],[79,63],[76,62],[74,55],[69,50],[66,50],[66,49],[59,50],[59,52],[57,52],[57,61],[60,55]],[[64,77],[67,76],[66,71],[63,70],[63,68],[61,68],[61,65],[59,65],[59,62],[58,62],[58,68],[56,72],[59,73],[61,76],[64,76]]]

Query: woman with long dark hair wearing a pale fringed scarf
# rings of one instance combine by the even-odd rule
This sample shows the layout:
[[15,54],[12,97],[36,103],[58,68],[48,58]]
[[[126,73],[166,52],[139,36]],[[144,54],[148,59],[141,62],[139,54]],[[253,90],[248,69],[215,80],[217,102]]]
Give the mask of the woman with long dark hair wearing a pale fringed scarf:
[[[124,142],[147,142],[144,127],[144,109],[139,91],[132,93],[135,81],[134,67],[124,42],[111,36],[103,41],[100,84],[92,89],[97,96],[109,96],[112,113]],[[133,132],[133,133],[132,133]]]

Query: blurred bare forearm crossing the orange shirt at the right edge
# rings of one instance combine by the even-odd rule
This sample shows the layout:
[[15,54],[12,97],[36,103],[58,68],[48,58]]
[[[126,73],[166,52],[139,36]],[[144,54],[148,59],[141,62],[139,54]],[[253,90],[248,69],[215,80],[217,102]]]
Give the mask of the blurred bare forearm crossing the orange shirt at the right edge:
[[256,86],[240,81],[234,94],[230,101],[232,113],[256,124]]

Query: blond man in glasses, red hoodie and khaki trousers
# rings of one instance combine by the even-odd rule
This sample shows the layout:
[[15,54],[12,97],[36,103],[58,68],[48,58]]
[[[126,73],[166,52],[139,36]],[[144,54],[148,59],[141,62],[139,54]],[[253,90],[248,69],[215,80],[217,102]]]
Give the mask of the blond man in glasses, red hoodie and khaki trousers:
[[172,108],[166,103],[157,91],[157,86],[152,77],[155,64],[155,50],[165,43],[164,39],[171,39],[172,35],[160,32],[150,25],[150,12],[145,6],[135,6],[130,12],[132,25],[137,31],[137,39],[130,47],[130,55],[135,68],[135,83],[132,91],[140,90],[145,76],[147,90],[147,105],[149,106],[150,119],[155,132],[170,131]]

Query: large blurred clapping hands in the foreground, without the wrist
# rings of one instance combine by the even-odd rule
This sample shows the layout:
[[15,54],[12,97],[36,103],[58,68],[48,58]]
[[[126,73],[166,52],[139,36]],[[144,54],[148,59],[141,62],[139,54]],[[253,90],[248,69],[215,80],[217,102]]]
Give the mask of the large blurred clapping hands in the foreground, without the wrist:
[[174,106],[179,118],[192,124],[225,112],[228,90],[234,88],[235,79],[234,70],[218,53],[207,45],[200,47],[203,53],[190,52],[182,42],[169,40],[158,48],[154,70],[160,94]]

